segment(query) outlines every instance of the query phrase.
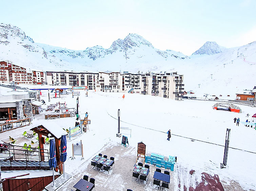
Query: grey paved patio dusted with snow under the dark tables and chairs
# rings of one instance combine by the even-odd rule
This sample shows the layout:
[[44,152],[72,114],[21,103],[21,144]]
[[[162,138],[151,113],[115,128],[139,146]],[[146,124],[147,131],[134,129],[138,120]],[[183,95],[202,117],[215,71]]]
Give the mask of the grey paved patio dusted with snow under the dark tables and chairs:
[[[108,158],[115,157],[115,166],[110,174],[107,172],[99,172],[92,169],[91,159],[85,161],[79,168],[81,170],[77,174],[72,174],[73,178],[70,179],[65,186],[62,186],[61,190],[73,190],[73,186],[83,178],[83,175],[88,175],[89,179],[95,179],[95,190],[99,191],[109,191],[109,190],[126,190],[132,189],[133,191],[144,191],[144,190],[159,190],[159,188],[153,189],[153,175],[156,169],[155,165],[150,165],[150,174],[148,175],[146,184],[138,183],[136,179],[132,176],[133,168],[136,163],[137,148],[134,147],[124,147],[120,143],[115,145],[106,145],[99,152],[102,155],[107,155]],[[94,156],[92,156],[93,158]],[[161,168],[162,172],[164,168]],[[170,170],[169,170],[170,171]],[[173,174],[174,172],[170,171],[170,190],[173,190]],[[154,185],[156,187],[156,185]]]

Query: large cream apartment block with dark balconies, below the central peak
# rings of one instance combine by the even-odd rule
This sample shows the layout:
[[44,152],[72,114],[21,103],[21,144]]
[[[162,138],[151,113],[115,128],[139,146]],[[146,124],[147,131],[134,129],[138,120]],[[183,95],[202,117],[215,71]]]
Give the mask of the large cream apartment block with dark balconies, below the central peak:
[[184,92],[183,75],[173,73],[131,74],[99,72],[96,91],[131,92],[179,100]]

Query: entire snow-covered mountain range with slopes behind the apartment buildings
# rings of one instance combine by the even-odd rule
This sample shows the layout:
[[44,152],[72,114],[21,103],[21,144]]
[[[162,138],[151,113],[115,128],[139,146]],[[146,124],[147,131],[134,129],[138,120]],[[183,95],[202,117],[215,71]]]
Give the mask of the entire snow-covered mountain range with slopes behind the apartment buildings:
[[18,27],[0,24],[0,60],[43,71],[177,71],[184,75],[186,90],[216,95],[232,95],[256,85],[252,80],[256,78],[256,41],[230,49],[206,42],[188,57],[156,49],[142,36],[129,34],[108,49],[94,46],[78,51],[35,43]]

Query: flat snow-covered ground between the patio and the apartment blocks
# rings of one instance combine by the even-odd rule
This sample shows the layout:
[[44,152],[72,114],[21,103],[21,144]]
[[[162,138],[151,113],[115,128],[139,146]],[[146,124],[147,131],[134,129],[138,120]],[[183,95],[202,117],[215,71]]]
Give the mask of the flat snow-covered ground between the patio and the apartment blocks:
[[[85,97],[85,91],[81,91],[79,114],[83,118],[85,112],[88,112],[88,119],[91,119],[90,131],[73,140],[67,139],[65,172],[72,175],[83,170],[78,169],[84,162],[79,156],[71,160],[72,143],[82,140],[85,161],[95,155],[107,142],[121,143],[121,138],[116,137],[118,121],[115,119],[120,109],[120,126],[132,129],[131,138],[130,135],[128,136],[130,147],[136,148],[137,143],[143,141],[147,153],[177,156],[177,164],[181,166],[211,175],[218,174],[221,182],[225,181],[229,184],[234,180],[245,190],[256,190],[256,167],[253,165],[256,161],[256,130],[241,124],[236,126],[233,121],[234,117],[245,121],[247,113],[252,116],[255,108],[239,105],[242,113],[234,113],[214,110],[212,106],[216,102],[211,101],[174,101],[127,93],[124,99],[122,96],[123,93],[89,91],[88,97]],[[48,91],[42,90],[41,99],[48,100]],[[59,101],[61,103],[66,101],[67,107],[76,107],[76,97],[72,98],[71,94],[64,95],[60,99],[51,98],[50,103]],[[12,133],[13,137],[20,136],[25,128],[31,129],[41,125],[42,121],[45,121],[42,115],[36,116],[32,121],[33,125],[15,130],[15,133]],[[75,121],[75,117],[60,118],[47,120],[47,124],[67,129],[74,127]],[[227,168],[220,169],[227,128],[231,129],[229,146],[233,148],[229,148]],[[172,132],[170,142],[166,140],[166,132],[169,129]],[[0,138],[3,136],[7,136],[7,132],[0,134]],[[192,141],[192,139],[196,140]],[[17,144],[23,145],[23,142]]]

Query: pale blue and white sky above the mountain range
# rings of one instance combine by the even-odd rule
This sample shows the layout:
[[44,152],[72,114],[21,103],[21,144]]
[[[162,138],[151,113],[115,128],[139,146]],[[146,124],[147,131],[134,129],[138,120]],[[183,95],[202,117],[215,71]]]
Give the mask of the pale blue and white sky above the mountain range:
[[227,48],[256,40],[255,0],[0,1],[0,23],[37,43],[73,50],[136,33],[160,50],[191,55],[206,41]]

